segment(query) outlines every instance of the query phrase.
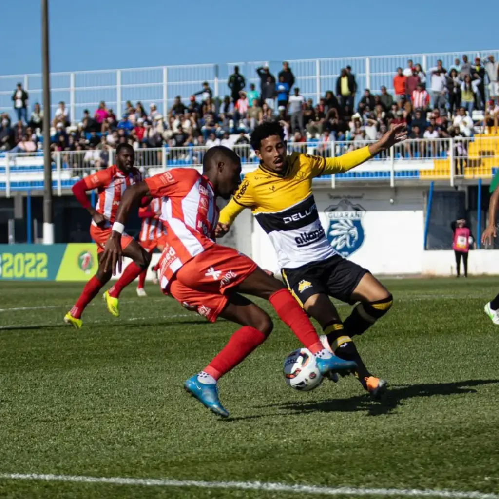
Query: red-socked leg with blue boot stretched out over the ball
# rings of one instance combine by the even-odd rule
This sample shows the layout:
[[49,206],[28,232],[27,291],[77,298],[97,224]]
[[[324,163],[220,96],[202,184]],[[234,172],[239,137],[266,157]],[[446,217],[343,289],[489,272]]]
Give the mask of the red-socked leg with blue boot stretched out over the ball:
[[[274,276],[256,267],[237,289],[239,292],[267,299],[279,318],[315,356],[320,371],[350,371],[356,368],[354,361],[341,359],[324,348],[307,315],[285,285]],[[340,362],[341,360],[341,362]]]

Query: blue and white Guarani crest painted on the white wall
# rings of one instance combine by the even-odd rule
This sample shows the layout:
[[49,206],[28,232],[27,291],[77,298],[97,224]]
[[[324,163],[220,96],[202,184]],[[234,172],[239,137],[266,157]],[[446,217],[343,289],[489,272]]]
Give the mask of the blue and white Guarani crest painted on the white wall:
[[342,256],[347,257],[357,251],[364,242],[362,217],[366,211],[348,199],[324,210],[327,219],[326,236],[330,245]]

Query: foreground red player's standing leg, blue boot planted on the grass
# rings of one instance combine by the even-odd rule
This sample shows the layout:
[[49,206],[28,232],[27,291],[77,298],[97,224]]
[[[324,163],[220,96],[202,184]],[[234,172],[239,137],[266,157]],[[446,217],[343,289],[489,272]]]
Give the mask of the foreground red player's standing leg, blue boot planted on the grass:
[[265,341],[273,324],[266,312],[237,293],[228,297],[225,308],[218,316],[241,324],[242,327],[201,372],[186,381],[185,389],[211,411],[227,417],[229,413],[218,397],[217,382]]

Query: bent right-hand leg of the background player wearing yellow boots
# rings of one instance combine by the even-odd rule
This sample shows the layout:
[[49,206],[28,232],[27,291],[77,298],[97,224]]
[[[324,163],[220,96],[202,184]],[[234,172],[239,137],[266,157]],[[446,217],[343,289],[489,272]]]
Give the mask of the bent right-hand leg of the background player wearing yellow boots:
[[132,261],[125,267],[120,278],[104,293],[107,309],[115,317],[120,314],[118,297],[121,291],[134,281],[144,269],[147,269],[151,262],[151,255],[137,241],[130,236],[124,236],[121,239],[122,253],[123,256]]

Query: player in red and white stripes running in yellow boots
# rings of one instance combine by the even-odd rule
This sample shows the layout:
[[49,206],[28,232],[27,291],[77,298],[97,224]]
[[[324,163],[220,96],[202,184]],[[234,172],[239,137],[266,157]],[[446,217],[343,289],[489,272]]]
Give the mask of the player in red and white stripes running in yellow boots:
[[[85,307],[111,278],[111,272],[104,268],[102,253],[111,234],[111,224],[116,218],[118,205],[125,189],[142,180],[139,170],[133,166],[134,161],[133,147],[129,144],[119,144],[116,148],[116,165],[85,177],[74,184],[72,188],[75,198],[92,217],[90,236],[97,244],[99,258],[97,273],[85,284],[73,308],[64,316],[64,322],[76,328],[82,326],[81,314]],[[98,190],[98,201],[95,209],[90,205],[86,195],[87,191],[93,189]],[[141,203],[145,204],[149,201],[148,198],[145,198],[141,200]],[[151,261],[151,255],[127,234],[123,234],[121,238],[121,248],[123,254],[133,261],[125,268],[121,277],[104,293],[107,308],[115,317],[119,316],[118,297],[121,290],[138,277],[144,269],[147,269]]]

